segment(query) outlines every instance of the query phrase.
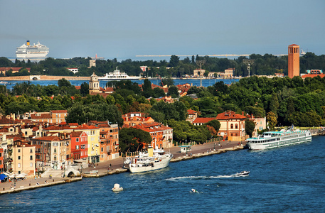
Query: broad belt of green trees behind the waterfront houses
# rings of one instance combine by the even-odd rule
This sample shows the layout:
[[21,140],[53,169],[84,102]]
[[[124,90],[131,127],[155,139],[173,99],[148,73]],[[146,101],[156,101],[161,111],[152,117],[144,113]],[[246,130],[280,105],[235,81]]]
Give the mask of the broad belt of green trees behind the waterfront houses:
[[[151,82],[146,80],[146,84]],[[122,114],[132,111],[144,112],[155,121],[168,124],[174,129],[176,141],[203,142],[216,136],[218,124],[193,126],[186,120],[187,109],[199,111],[200,116],[215,117],[223,111],[232,110],[238,114],[253,114],[266,117],[269,127],[276,126],[324,126],[325,124],[325,78],[301,77],[267,78],[249,77],[230,86],[216,82],[210,87],[191,87],[188,94],[172,104],[147,99],[153,92],[151,87],[140,89],[137,83],[116,82],[115,92],[106,98],[81,94],[80,90],[66,80],[59,80],[58,86],[39,86],[23,82],[12,91],[0,87],[0,112],[2,114],[23,114],[26,111],[50,111],[68,109],[68,122],[82,124],[87,121],[110,121],[122,126]],[[173,86],[171,86],[173,87]],[[85,83],[85,88],[87,84]],[[87,89],[85,89],[87,91]],[[75,92],[75,94],[72,94]],[[53,97],[52,94],[55,94]],[[152,93],[155,94],[155,93]],[[157,96],[159,95],[156,94]],[[248,124],[247,133],[254,128]],[[137,143],[134,143],[137,145]],[[138,146],[138,145],[137,145]],[[135,147],[134,147],[135,148]]]

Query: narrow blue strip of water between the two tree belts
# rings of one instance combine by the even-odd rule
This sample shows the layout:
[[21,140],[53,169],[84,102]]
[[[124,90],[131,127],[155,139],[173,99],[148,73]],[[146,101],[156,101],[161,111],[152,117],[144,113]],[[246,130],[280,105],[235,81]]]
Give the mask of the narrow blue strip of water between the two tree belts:
[[[150,79],[149,79],[150,80]],[[150,80],[152,84],[159,85],[160,80],[157,79],[151,79]],[[221,82],[223,81],[225,84],[231,84],[232,82],[238,82],[238,79],[205,79],[202,80],[202,86],[203,87],[208,87],[208,86],[213,86],[215,82]],[[1,85],[6,85],[7,89],[12,89],[14,85],[26,82],[26,81],[6,81],[6,84],[1,84]],[[70,80],[70,83],[75,85],[75,86],[80,86],[83,82],[89,83],[89,81],[84,81],[84,80]],[[143,84],[144,80],[132,80],[132,82],[137,82],[138,84]],[[100,81],[100,87],[105,87],[107,81]],[[176,79],[174,80],[174,84],[192,84],[193,86],[200,86],[200,80],[199,79]],[[58,85],[58,81],[31,81],[31,84],[40,84],[41,86],[46,86],[46,85]]]

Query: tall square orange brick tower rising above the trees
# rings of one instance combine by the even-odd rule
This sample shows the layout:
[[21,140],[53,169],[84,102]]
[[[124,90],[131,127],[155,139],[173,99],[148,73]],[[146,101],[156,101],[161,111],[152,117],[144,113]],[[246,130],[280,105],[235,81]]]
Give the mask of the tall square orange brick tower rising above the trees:
[[299,45],[292,44],[288,47],[288,76],[299,76]]

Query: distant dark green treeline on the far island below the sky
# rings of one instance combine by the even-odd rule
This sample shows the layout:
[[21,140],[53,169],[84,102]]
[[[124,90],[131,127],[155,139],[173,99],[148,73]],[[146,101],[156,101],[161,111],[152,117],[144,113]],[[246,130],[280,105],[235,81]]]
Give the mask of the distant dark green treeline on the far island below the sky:
[[[93,72],[98,76],[105,75],[107,72],[112,72],[115,67],[119,70],[127,72],[128,75],[144,77],[182,77],[184,75],[193,75],[193,70],[197,69],[199,62],[203,62],[202,68],[208,72],[223,72],[228,68],[235,68],[234,76],[247,76],[247,63],[245,59],[252,59],[255,62],[250,67],[250,75],[274,75],[275,73],[284,73],[287,75],[287,56],[277,57],[275,55],[252,54],[248,58],[240,56],[237,59],[230,60],[228,58],[215,57],[199,57],[198,55],[190,58],[180,58],[176,55],[171,55],[168,61],[155,60],[132,61],[131,59],[118,62],[113,60],[96,60],[96,67],[89,67],[91,58],[72,58],[72,59],[54,59],[46,58],[40,62],[31,62],[28,60],[11,60],[1,57],[0,67],[23,67],[19,72],[6,72],[6,76],[14,75],[57,75],[57,76],[90,76]],[[140,66],[149,67],[146,72],[142,72]],[[26,67],[31,68],[28,73]],[[73,74],[68,68],[79,69],[79,72]],[[305,70],[325,70],[325,55],[315,55],[314,53],[306,53],[300,57],[300,72],[305,73]],[[0,77],[4,74],[0,74]]]

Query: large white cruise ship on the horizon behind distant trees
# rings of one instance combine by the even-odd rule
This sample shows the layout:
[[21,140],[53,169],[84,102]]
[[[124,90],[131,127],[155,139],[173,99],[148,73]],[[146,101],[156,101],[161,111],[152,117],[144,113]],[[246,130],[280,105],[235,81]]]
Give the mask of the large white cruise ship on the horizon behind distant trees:
[[29,40],[26,44],[21,45],[16,50],[16,58],[45,58],[49,49],[46,45],[42,45],[39,41],[30,45]]

